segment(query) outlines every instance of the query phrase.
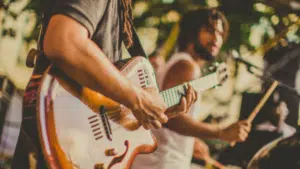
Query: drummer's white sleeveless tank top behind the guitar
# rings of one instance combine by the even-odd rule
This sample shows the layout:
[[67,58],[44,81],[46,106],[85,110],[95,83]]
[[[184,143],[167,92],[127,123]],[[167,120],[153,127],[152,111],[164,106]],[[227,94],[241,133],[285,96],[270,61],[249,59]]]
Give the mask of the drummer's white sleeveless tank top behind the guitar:
[[[165,67],[157,72],[158,85],[161,88],[169,69],[181,60],[193,61],[187,53],[177,53],[171,57]],[[199,98],[199,97],[198,97]],[[194,103],[188,114],[197,117],[200,111],[200,99]],[[151,154],[140,154],[131,169],[189,169],[194,150],[194,137],[180,135],[167,128],[151,130],[157,139],[157,150]]]

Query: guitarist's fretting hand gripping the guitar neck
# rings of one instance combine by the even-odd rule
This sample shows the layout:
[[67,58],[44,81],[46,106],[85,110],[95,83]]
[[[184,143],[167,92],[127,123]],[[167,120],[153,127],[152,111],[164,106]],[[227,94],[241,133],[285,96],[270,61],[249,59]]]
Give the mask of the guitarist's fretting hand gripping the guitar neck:
[[184,113],[187,113],[189,108],[195,101],[197,101],[197,92],[193,87],[188,84],[186,95],[181,98],[180,104],[168,108],[165,114],[169,117],[175,117]]

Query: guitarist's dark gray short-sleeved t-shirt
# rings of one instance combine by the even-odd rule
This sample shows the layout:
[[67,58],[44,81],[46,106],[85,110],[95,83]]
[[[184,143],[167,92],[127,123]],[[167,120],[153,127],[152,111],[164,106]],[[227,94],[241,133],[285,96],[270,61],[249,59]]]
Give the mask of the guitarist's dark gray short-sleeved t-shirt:
[[55,14],[73,18],[87,28],[90,38],[111,62],[121,59],[120,0],[45,0],[44,12],[46,23]]

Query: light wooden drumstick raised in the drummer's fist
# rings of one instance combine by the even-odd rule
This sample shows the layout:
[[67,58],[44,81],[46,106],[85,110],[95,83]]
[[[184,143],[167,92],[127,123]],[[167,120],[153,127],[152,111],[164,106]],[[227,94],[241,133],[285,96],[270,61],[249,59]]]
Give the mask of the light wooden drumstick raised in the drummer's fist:
[[[278,81],[275,80],[272,83],[271,87],[267,90],[266,94],[260,99],[260,101],[258,102],[258,104],[256,105],[256,107],[254,108],[254,110],[251,112],[251,114],[247,118],[247,122],[252,123],[252,121],[256,117],[257,113],[264,106],[264,104],[266,103],[266,101],[271,96],[271,94],[273,93],[273,91],[276,89],[277,86],[278,86]],[[235,146],[235,143],[236,142],[230,143],[230,146],[231,147]]]

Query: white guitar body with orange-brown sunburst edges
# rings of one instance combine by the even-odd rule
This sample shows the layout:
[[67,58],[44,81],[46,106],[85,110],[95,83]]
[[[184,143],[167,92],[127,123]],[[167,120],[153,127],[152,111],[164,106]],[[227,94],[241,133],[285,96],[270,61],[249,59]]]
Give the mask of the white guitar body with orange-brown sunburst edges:
[[[136,85],[157,87],[143,57],[130,59],[120,71]],[[137,154],[156,149],[155,138],[130,110],[53,67],[43,75],[37,100],[41,146],[51,169],[129,169]]]

